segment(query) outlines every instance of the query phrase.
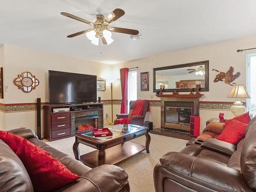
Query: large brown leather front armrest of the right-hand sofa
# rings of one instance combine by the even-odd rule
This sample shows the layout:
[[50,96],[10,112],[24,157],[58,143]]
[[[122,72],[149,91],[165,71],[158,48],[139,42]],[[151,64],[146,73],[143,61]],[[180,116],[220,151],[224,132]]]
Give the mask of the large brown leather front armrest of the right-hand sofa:
[[[241,173],[215,161],[169,152],[160,159],[170,179],[196,191],[252,191]],[[167,177],[167,174],[164,175]]]

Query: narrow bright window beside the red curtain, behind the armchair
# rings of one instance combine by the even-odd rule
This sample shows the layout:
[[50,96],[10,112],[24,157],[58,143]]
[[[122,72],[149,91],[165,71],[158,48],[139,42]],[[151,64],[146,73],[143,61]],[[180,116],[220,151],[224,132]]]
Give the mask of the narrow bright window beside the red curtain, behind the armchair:
[[137,100],[137,71],[128,73],[128,112],[130,111],[130,101]]

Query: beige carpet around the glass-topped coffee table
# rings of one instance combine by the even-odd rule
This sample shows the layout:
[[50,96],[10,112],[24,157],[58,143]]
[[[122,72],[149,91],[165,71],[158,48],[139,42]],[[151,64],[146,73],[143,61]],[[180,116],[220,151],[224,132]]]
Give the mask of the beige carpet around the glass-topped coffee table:
[[[74,157],[72,145],[75,141],[75,137],[51,142],[46,140],[44,141],[57,150]],[[132,140],[132,142],[144,145],[145,137],[141,136]],[[162,157],[163,154],[170,151],[179,152],[183,147],[185,147],[186,142],[187,140],[151,134],[150,154],[142,152],[118,165],[122,167],[129,175],[131,191],[154,192],[153,169],[156,163],[159,161],[159,158]],[[95,149],[79,144],[79,150],[80,154],[85,154],[94,151]]]

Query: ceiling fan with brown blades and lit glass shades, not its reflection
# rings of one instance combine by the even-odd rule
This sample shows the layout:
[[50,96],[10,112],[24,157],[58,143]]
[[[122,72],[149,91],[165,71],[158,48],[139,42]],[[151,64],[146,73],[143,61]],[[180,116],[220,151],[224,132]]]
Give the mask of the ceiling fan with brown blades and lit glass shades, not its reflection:
[[106,17],[104,17],[101,14],[98,14],[96,15],[96,20],[94,23],[89,22],[86,19],[72,15],[70,13],[61,12],[60,14],[93,26],[93,29],[83,30],[83,31],[68,35],[67,37],[75,37],[83,33],[86,33],[87,38],[91,40],[93,45],[96,45],[96,46],[102,45],[102,44],[104,45],[112,44],[114,40],[113,38],[111,38],[112,36],[111,32],[125,33],[130,35],[139,34],[138,30],[109,26],[112,22],[114,22],[115,20],[117,20],[118,18],[124,15],[124,11],[122,9],[115,9],[112,13],[110,13]]

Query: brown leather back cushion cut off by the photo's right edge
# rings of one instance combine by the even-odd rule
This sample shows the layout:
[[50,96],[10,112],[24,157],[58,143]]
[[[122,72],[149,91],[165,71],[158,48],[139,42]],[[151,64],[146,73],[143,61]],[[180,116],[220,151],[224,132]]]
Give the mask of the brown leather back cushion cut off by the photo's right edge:
[[241,172],[248,185],[256,188],[256,127],[246,134],[241,152]]

